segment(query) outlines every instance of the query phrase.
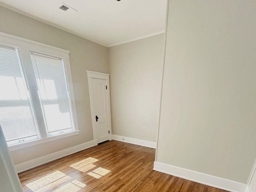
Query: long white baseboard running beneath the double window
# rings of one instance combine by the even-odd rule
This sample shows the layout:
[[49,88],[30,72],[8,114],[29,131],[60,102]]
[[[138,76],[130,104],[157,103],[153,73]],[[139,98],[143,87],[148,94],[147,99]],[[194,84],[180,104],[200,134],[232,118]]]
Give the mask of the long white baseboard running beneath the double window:
[[30,161],[26,161],[21,164],[17,164],[17,165],[15,165],[15,168],[16,168],[16,171],[18,173],[20,173],[20,172],[32,169],[34,167],[40,166],[42,164],[54,161],[56,159],[71,155],[73,153],[91,148],[96,145],[98,145],[97,140],[92,140],[90,142],[86,142],[86,143],[83,143],[83,144],[80,144],[80,145],[77,145],[74,147],[70,147],[70,148],[67,148],[67,149],[52,153],[52,154],[48,154],[46,156],[42,156],[42,157],[30,160]]

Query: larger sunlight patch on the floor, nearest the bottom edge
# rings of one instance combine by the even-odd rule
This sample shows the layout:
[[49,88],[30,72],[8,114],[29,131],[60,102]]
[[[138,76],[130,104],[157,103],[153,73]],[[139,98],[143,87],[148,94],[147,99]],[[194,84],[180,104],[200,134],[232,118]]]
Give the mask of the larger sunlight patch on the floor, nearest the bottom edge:
[[77,192],[86,186],[86,184],[73,180],[70,176],[58,170],[32,180],[25,185],[33,192],[45,192],[53,189],[55,189],[54,192]]

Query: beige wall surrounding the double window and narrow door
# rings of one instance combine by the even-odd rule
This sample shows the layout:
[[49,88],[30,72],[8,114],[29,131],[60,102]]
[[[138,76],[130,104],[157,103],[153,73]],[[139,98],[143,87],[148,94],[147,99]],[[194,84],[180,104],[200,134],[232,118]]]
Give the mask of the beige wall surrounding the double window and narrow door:
[[[79,135],[12,151],[15,164],[93,140],[86,70],[110,73],[108,48],[0,6],[0,32],[70,51]],[[54,147],[53,147],[54,146]]]

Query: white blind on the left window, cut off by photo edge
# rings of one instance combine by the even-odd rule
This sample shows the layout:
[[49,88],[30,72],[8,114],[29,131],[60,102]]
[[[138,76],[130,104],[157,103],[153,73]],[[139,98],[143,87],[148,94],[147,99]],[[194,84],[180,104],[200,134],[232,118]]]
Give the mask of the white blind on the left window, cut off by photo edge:
[[7,144],[39,138],[17,50],[0,46],[0,124]]

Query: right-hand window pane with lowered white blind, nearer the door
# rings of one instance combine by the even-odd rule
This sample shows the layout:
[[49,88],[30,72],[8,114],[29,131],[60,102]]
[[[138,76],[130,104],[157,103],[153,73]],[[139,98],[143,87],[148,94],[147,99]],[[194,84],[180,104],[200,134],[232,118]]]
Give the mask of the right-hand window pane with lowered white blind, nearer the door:
[[48,134],[73,131],[63,60],[31,53]]

